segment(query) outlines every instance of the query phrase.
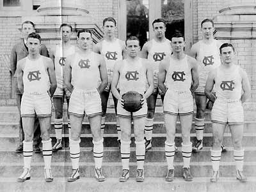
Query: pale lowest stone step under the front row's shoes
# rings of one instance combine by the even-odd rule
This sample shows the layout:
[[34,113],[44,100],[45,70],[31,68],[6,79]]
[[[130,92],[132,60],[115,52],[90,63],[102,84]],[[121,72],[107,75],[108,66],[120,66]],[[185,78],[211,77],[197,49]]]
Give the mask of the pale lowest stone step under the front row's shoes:
[[[18,175],[15,175],[19,177]],[[225,192],[254,192],[256,178],[248,177],[248,182],[241,183],[234,177],[221,177],[217,183],[209,182],[207,177],[194,177],[193,181],[185,182],[180,177],[175,177],[173,182],[164,181],[163,177],[146,177],[144,182],[136,182],[131,177],[127,182],[119,182],[118,178],[107,178],[104,182],[97,182],[94,178],[81,177],[76,182],[67,182],[65,177],[54,177],[54,181],[47,183],[41,177],[33,177],[31,180],[19,183],[16,177],[0,177],[0,188],[3,191],[122,191],[122,192],[177,192],[177,191],[225,191]],[[118,176],[116,176],[118,177]]]

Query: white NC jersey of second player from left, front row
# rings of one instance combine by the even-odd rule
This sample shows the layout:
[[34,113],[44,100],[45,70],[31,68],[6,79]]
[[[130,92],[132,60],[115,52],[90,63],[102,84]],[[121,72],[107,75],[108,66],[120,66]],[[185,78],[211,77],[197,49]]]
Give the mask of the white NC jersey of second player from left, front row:
[[90,52],[86,56],[79,53],[74,54],[74,59],[70,65],[74,88],[84,91],[97,89],[100,64],[97,55],[94,52]]

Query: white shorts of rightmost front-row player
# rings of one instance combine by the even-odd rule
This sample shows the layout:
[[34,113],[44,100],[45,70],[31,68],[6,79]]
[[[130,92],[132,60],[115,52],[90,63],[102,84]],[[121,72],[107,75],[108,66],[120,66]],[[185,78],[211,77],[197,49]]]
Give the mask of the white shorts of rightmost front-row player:
[[211,121],[221,124],[243,124],[244,110],[240,100],[222,100],[214,102]]

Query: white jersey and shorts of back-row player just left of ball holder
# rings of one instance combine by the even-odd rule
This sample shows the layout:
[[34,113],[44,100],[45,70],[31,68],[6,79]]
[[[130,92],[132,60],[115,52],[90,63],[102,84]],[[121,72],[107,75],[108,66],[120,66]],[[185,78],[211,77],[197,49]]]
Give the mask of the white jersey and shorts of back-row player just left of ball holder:
[[123,48],[121,40],[116,39],[114,42],[102,40],[102,49],[100,51],[100,54],[103,55],[108,70],[108,85],[104,89],[104,91],[110,91],[111,89],[110,85],[112,82],[115,63],[116,61],[121,61],[123,59],[122,49]]

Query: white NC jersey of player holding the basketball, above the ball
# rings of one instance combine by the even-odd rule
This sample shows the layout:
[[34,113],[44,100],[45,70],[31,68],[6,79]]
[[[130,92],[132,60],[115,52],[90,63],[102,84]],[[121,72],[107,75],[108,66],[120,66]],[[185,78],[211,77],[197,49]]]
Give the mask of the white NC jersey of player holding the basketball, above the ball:
[[147,84],[146,67],[143,65],[143,59],[139,58],[136,63],[129,63],[124,59],[120,68],[119,88],[120,94],[127,91],[137,91],[144,94]]

